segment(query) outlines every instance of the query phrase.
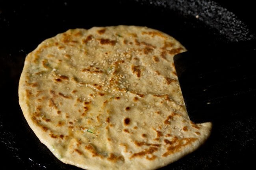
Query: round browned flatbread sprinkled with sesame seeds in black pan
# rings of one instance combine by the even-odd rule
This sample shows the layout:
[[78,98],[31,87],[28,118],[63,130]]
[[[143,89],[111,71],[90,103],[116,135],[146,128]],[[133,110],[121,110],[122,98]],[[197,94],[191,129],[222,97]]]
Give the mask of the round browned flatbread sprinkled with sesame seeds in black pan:
[[63,163],[153,170],[194,151],[211,123],[189,120],[173,56],[186,49],[147,27],[70,29],[28,54],[19,103]]

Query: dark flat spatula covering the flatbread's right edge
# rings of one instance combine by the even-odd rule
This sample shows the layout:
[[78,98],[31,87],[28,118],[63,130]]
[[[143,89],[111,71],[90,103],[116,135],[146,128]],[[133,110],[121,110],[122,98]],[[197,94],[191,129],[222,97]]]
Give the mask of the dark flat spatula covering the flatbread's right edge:
[[191,121],[256,113],[255,40],[189,50],[175,55],[174,64]]

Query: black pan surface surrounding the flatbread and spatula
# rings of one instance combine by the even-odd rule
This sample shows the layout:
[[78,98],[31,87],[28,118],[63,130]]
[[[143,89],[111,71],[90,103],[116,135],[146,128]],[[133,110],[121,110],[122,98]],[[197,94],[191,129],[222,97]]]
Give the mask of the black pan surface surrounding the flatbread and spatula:
[[[253,5],[220,3],[223,7],[210,0],[0,2],[0,169],[80,169],[61,163],[40,143],[19,106],[24,59],[43,40],[70,28],[120,24],[158,29],[187,49],[255,38],[254,19],[250,18],[255,17]],[[213,122],[210,138],[198,150],[160,169],[226,170],[253,165],[255,110],[232,112],[235,116],[229,120]]]

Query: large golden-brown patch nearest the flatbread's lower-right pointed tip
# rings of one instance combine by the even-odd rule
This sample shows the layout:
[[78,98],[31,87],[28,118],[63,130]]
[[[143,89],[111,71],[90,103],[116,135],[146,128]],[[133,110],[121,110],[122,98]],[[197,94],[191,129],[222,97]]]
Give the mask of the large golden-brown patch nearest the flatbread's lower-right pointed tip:
[[178,139],[178,137],[174,137],[172,141],[165,139],[164,142],[166,143],[166,145],[169,145],[169,146],[167,147],[167,151],[162,156],[167,157],[168,155],[179,152],[184,146],[189,145],[196,140],[197,138],[192,138],[192,137],[184,138],[184,139]]

